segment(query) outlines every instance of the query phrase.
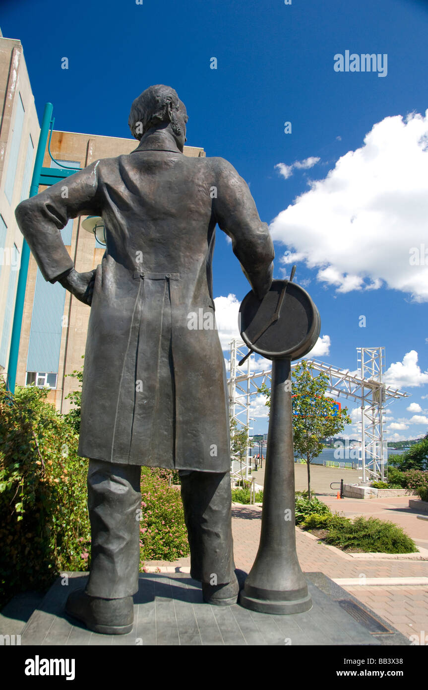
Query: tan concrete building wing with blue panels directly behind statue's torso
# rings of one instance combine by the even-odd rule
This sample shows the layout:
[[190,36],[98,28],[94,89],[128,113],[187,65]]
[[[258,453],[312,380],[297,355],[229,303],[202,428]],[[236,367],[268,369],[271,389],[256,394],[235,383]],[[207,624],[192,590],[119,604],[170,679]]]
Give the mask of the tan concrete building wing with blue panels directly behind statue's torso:
[[[68,168],[85,168],[99,158],[128,154],[138,146],[135,139],[120,139],[76,132],[52,132],[52,157]],[[202,148],[185,146],[184,154],[205,157]],[[43,166],[58,168],[48,150]],[[42,189],[42,188],[41,188]],[[68,221],[61,231],[74,266],[79,272],[101,263],[105,248],[84,230],[85,217]],[[17,370],[17,385],[48,385],[48,400],[62,413],[70,409],[66,395],[77,389],[77,380],[68,376],[83,364],[90,307],[72,297],[59,284],[45,282],[30,257]],[[119,366],[120,363],[118,363]]]

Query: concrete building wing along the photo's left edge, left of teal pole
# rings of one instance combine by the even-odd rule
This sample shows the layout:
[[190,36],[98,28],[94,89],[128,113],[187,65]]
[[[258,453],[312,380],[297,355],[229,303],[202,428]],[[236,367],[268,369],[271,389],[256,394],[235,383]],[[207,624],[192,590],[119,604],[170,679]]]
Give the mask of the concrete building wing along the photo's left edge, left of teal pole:
[[39,120],[21,42],[0,32],[0,373],[8,364],[23,237],[14,209],[28,198]]

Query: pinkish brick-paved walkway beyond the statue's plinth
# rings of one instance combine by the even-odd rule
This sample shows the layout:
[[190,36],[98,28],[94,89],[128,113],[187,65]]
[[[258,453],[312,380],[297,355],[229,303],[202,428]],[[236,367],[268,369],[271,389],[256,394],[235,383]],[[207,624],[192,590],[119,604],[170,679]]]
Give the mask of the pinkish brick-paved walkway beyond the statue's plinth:
[[[295,465],[296,490],[307,488],[305,465]],[[254,473],[256,482],[263,485],[263,470]],[[409,509],[409,497],[354,500],[336,498],[337,489],[330,489],[331,482],[358,481],[358,471],[311,466],[312,489],[332,511],[346,517],[376,515],[402,526],[428,558],[428,522],[418,520],[418,511]],[[232,506],[232,530],[236,567],[249,571],[256,557],[261,529],[261,506]],[[380,558],[370,554],[348,555],[332,549],[301,529],[296,529],[296,546],[300,566],[305,572],[320,571],[332,578],[358,598],[381,618],[390,622],[408,639],[411,635],[428,636],[428,560],[414,560],[409,554],[404,560]],[[417,556],[420,558],[420,555]],[[190,558],[175,563],[147,562],[147,569],[190,569]],[[425,631],[425,632],[424,632]],[[421,642],[419,642],[421,644]],[[428,644],[428,637],[427,642]]]

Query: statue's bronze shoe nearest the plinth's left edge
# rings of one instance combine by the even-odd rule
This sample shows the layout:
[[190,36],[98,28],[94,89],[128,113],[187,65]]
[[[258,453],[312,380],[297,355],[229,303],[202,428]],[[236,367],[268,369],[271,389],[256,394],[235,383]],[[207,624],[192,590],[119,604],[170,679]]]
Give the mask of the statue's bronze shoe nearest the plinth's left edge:
[[134,607],[132,597],[102,599],[90,597],[83,587],[72,592],[65,611],[85,626],[103,635],[125,635],[132,631]]

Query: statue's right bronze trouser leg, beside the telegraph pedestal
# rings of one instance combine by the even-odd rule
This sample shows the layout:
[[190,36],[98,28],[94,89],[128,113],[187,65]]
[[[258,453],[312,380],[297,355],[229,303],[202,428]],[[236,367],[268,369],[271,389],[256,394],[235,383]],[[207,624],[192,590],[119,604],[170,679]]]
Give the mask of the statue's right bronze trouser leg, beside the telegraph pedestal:
[[[234,578],[230,473],[179,471],[194,580]],[[215,575],[215,578],[213,577]]]

